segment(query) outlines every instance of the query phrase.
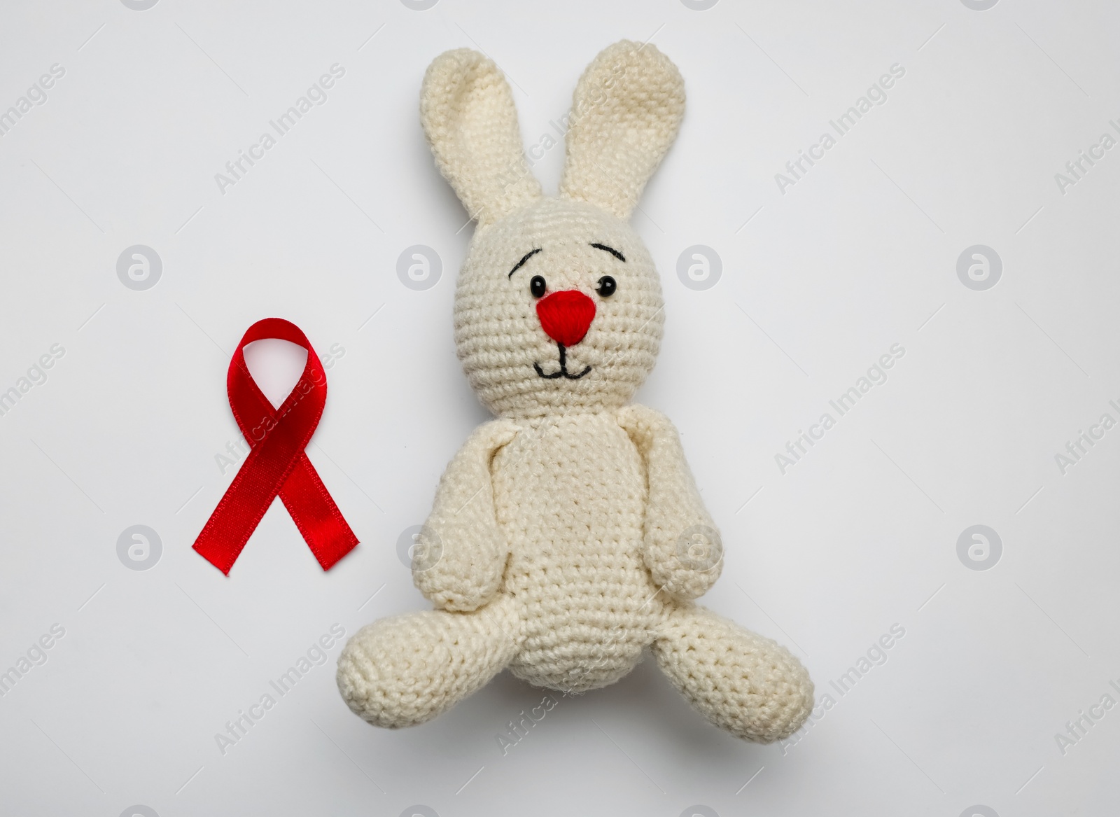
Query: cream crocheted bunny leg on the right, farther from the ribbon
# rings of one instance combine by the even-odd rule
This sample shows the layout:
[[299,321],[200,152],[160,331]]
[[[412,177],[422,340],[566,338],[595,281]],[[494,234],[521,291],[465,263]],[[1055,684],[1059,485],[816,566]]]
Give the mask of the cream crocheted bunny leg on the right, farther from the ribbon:
[[692,706],[736,737],[788,737],[813,706],[813,683],[788,650],[692,603],[665,611],[653,654]]

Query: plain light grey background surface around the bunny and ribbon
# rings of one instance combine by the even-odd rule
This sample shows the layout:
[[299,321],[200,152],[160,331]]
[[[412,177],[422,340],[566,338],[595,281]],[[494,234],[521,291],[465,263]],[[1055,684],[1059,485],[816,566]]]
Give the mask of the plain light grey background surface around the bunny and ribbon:
[[[1055,178],[1120,138],[1114,3],[10,0],[0,18],[0,110],[65,68],[0,138],[0,391],[64,350],[0,417],[0,670],[65,630],[0,697],[4,814],[1120,808],[1120,709],[1064,753],[1055,737],[1120,702],[1120,428],[1065,473],[1055,459],[1120,419],[1120,150]],[[796,652],[818,719],[785,745],[738,742],[646,661],[503,754],[541,691],[503,675],[379,731],[337,694],[336,644],[223,754],[215,733],[333,624],[426,606],[398,537],[485,419],[451,343],[470,228],[420,132],[424,67],[485,50],[531,146],[624,37],[652,38],[689,94],[635,213],[668,315],[638,399],[679,426],[722,529],[706,603]],[[221,192],[215,174],[336,63],[327,102]],[[887,101],[780,189],[894,64]],[[561,158],[535,165],[547,189]],[[162,264],[146,290],[118,277],[136,244]],[[417,244],[442,263],[428,289],[396,275]],[[722,264],[709,289],[676,275],[697,244]],[[1002,262],[987,290],[958,277],[974,244]],[[343,350],[308,454],[362,545],[324,574],[274,503],[226,578],[190,545],[234,473],[215,458],[237,434],[228,355],[272,315]],[[775,455],[894,344],[887,382],[783,474]],[[253,366],[282,396],[299,362],[272,351]],[[136,524],[162,544],[144,570],[118,557]],[[987,570],[958,556],[976,524],[1002,544]],[[830,681],[894,624],[888,660],[841,696]]]

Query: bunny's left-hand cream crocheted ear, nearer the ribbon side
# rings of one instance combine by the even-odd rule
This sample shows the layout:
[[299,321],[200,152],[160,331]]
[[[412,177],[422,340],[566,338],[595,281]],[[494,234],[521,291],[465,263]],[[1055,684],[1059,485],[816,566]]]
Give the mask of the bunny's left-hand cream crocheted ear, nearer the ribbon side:
[[479,225],[541,197],[510,85],[482,54],[458,48],[436,57],[420,91],[420,123],[439,171]]

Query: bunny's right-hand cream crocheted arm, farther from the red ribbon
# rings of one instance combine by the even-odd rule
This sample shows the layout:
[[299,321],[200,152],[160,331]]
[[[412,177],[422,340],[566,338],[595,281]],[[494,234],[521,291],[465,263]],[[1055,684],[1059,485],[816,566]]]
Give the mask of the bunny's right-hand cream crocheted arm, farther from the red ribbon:
[[618,424],[645,464],[648,499],[642,556],[657,586],[676,598],[702,596],[724,567],[716,524],[703,507],[680,436],[669,418],[626,406]]

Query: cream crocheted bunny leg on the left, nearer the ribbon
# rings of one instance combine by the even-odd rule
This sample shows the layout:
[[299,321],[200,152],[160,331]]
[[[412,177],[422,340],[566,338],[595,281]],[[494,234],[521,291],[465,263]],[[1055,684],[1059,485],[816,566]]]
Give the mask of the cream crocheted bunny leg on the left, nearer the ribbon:
[[502,671],[519,632],[513,598],[504,594],[470,613],[431,610],[382,619],[343,649],[338,689],[375,726],[414,726]]

